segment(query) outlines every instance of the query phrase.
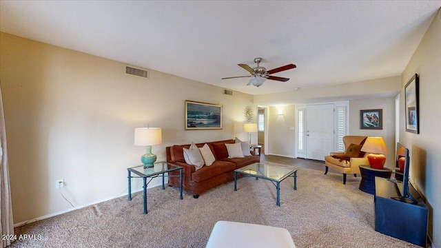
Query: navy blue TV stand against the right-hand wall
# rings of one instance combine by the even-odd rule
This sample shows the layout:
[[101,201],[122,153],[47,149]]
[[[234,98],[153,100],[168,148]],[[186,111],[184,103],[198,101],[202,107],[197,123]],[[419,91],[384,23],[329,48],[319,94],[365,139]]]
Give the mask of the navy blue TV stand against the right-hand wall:
[[375,230],[382,234],[426,247],[427,205],[409,184],[417,204],[405,203],[391,197],[401,196],[395,180],[375,178]]

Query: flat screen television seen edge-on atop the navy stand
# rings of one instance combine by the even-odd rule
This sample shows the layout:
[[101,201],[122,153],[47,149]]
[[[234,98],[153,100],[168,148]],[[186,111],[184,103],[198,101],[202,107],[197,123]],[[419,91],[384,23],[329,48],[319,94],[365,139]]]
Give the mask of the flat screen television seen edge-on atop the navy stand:
[[[409,149],[397,143],[396,150],[396,179],[402,181],[401,196],[392,197],[394,200],[400,200],[405,203],[416,204],[417,201],[409,192]],[[402,178],[401,178],[402,175]]]

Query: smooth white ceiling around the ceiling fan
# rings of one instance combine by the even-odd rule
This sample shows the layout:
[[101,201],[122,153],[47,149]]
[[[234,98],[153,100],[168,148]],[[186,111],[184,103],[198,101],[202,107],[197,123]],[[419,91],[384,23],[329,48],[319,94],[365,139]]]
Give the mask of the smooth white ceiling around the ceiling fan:
[[[248,94],[400,75],[441,1],[0,1],[0,30]],[[238,63],[283,83],[246,86]]]

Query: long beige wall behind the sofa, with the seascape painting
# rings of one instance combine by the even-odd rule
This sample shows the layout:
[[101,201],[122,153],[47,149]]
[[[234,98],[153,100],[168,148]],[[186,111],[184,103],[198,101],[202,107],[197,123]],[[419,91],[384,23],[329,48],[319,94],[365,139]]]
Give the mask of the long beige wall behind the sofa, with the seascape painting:
[[[5,33],[0,41],[14,223],[72,209],[57,179],[76,206],[127,194],[127,167],[145,153],[134,146],[135,127],[163,128],[163,144],[153,147],[158,161],[175,143],[247,139],[251,95],[225,96],[220,87],[154,70],[146,80],[125,74],[125,63]],[[186,99],[222,104],[223,130],[185,131]],[[141,180],[133,182],[141,189]]]

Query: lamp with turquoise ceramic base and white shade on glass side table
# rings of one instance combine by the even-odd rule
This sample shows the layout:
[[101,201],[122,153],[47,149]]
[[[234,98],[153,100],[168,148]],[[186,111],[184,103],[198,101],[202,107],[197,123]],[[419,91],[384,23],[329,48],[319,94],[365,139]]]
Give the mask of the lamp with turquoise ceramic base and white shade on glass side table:
[[162,143],[162,132],[159,127],[136,127],[135,128],[135,145],[146,146],[147,152],[141,156],[141,162],[144,167],[153,166],[156,161],[156,155],[152,154],[152,145],[160,145]]

